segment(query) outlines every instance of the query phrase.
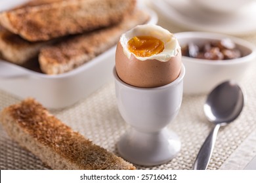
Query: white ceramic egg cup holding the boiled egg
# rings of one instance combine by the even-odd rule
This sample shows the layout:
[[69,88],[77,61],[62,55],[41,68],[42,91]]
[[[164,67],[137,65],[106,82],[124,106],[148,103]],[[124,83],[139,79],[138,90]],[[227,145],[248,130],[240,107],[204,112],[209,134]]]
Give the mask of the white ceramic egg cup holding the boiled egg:
[[114,68],[119,112],[132,127],[117,143],[124,159],[137,165],[160,165],[181,150],[179,137],[166,126],[181,107],[184,74],[182,65],[179,77],[170,84],[138,88],[120,80]]

